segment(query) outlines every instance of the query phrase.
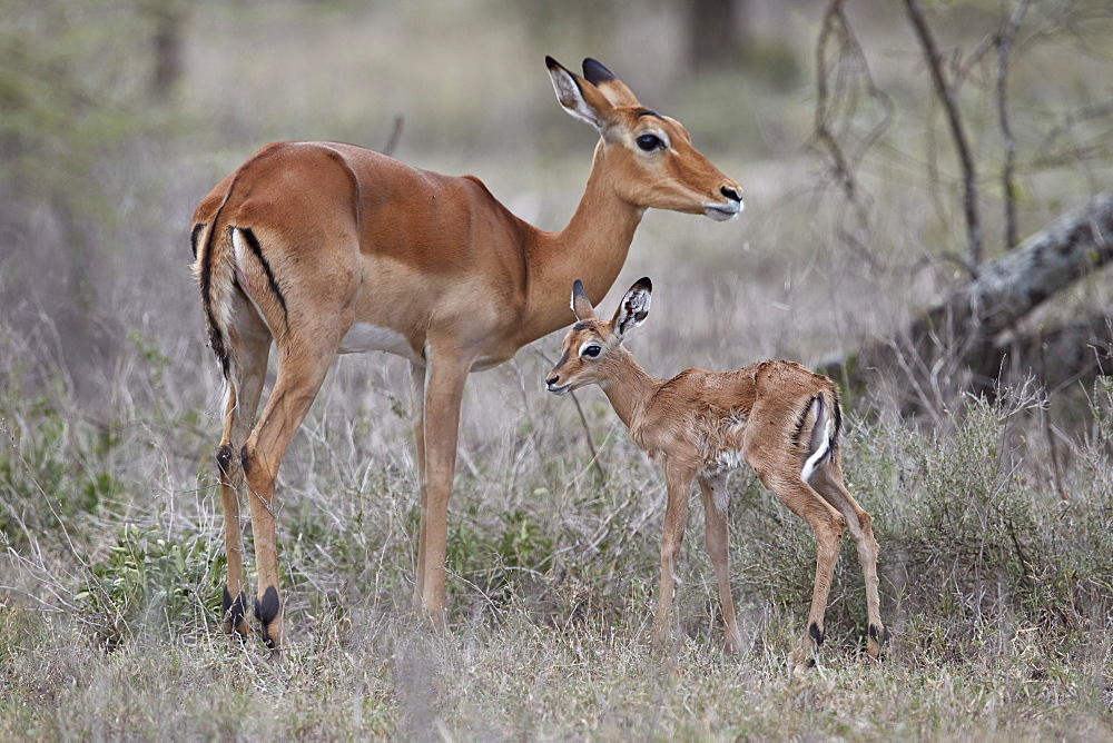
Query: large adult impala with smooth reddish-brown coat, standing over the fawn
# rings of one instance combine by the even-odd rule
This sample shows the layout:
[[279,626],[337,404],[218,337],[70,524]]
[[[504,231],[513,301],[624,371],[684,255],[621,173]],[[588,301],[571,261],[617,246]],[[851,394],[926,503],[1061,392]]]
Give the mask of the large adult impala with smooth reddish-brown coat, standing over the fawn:
[[[610,70],[585,59],[581,78],[545,62],[561,106],[600,133],[583,197],[559,232],[514,217],[476,178],[335,142],[268,145],[197,206],[194,267],[228,383],[217,466],[229,631],[248,633],[238,495],[246,478],[255,615],[267,644],[283,645],[275,477],[336,354],[384,350],[410,360],[421,484],[414,602],[441,623],[467,374],[571,323],[561,297],[577,276],[592,277],[587,291],[602,299],[647,208],[716,220],[741,210],[738,184]],[[256,420],[272,340],[277,378]]]

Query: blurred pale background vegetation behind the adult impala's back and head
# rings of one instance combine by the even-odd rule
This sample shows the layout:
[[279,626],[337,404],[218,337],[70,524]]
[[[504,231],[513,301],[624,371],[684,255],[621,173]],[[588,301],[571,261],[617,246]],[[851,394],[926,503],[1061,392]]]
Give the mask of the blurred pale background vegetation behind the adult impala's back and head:
[[[1012,8],[927,3],[981,176],[987,257],[1005,242],[992,41]],[[629,271],[681,264],[709,284],[703,301],[755,295],[752,337],[711,331],[741,341],[723,360],[814,361],[892,334],[962,277],[962,175],[904,9],[845,3],[853,26],[819,53],[826,13],[804,0],[6,2],[6,326],[49,354],[28,369],[37,383],[61,373],[83,395],[131,351],[129,331],[198,363],[181,343],[199,327],[181,226],[213,184],[276,139],[393,139],[398,158],[477,175],[526,220],[559,228],[594,133],[555,116],[541,61],[552,53],[569,66],[600,58],[746,189],[750,209],[725,229],[650,215]],[[1023,20],[1007,78],[1021,237],[1107,188],[1113,159],[1107,9],[1037,2]],[[851,168],[853,204],[820,121]],[[1107,307],[1105,284],[1060,315],[1080,300]],[[867,296],[875,311],[861,311]],[[767,327],[778,311],[790,321]]]

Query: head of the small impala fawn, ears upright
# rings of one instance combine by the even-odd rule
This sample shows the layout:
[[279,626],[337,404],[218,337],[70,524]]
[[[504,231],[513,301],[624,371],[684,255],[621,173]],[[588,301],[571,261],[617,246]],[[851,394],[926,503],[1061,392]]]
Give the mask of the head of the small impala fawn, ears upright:
[[649,317],[653,283],[648,277],[634,281],[622,297],[614,317],[601,320],[583,291],[583,284],[572,284],[572,311],[577,323],[569,328],[561,346],[561,357],[545,377],[549,392],[567,395],[584,385],[605,385],[615,367],[629,359],[622,347],[627,334]]

